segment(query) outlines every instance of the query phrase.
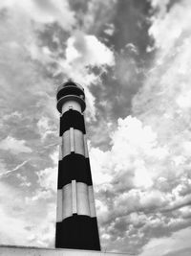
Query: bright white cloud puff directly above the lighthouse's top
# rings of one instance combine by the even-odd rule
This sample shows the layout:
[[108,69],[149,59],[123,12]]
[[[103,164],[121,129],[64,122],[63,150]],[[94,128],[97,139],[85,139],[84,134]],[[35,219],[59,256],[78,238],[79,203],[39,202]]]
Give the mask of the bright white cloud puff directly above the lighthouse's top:
[[59,61],[60,72],[83,85],[96,83],[99,79],[91,67],[96,66],[105,71],[107,66],[115,64],[114,53],[95,35],[77,31],[68,38],[66,45],[66,58]]

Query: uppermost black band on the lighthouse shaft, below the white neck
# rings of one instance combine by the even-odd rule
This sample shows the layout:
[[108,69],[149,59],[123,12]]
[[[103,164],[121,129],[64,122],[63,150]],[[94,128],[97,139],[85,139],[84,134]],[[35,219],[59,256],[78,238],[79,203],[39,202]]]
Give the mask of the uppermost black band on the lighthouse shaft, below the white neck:
[[83,115],[73,109],[66,111],[60,117],[60,136],[62,136],[64,131],[70,128],[76,128],[81,130],[84,134],[86,133]]

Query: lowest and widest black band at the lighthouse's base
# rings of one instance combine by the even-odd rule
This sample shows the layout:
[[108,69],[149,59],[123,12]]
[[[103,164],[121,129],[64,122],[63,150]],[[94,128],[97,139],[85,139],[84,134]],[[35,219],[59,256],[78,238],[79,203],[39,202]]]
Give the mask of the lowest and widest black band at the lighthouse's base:
[[57,222],[56,238],[55,247],[100,250],[96,217],[74,215]]

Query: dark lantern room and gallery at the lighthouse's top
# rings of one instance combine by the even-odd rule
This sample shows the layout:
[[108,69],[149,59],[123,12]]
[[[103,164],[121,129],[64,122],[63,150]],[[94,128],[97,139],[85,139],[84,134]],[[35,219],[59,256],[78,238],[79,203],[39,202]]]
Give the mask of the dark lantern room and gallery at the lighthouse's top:
[[81,106],[82,112],[86,108],[84,88],[72,80],[66,81],[58,86],[56,98],[57,110],[60,113],[62,112],[64,103],[69,101],[77,102]]

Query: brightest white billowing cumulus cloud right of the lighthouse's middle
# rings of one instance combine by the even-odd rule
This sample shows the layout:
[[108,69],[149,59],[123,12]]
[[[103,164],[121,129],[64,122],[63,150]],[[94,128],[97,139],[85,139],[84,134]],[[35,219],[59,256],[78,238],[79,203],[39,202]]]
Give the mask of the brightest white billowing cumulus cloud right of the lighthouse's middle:
[[[104,155],[105,168],[112,170],[110,175],[125,177],[125,174],[129,174],[129,182],[133,180],[134,186],[151,186],[151,178],[158,176],[159,172],[154,174],[148,169],[149,165],[154,162],[154,159],[164,160],[168,155],[167,148],[158,145],[157,134],[149,126],[144,127],[136,117],[128,116],[125,119],[118,119],[117,130],[111,135],[111,139],[112,150],[106,152],[92,150],[92,158],[99,157],[98,164],[101,165],[102,155]],[[100,168],[97,169],[100,170]],[[103,167],[101,169],[103,170]],[[124,184],[127,183],[124,182]],[[121,188],[121,184],[118,184],[118,187]]]

